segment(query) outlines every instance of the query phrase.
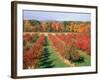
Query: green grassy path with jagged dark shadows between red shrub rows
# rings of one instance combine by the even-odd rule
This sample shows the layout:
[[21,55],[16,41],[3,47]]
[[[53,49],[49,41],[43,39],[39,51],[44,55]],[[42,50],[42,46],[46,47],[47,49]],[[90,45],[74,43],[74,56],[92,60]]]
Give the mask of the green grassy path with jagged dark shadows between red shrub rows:
[[60,56],[53,50],[50,41],[46,37],[44,51],[39,59],[38,68],[68,67]]

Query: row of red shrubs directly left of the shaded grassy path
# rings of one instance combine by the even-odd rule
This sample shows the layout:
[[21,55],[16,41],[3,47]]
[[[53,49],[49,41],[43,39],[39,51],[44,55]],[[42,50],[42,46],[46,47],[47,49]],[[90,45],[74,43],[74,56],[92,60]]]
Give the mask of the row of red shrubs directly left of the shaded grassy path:
[[43,50],[44,35],[41,35],[39,39],[33,44],[33,46],[23,54],[24,69],[35,68],[37,61]]

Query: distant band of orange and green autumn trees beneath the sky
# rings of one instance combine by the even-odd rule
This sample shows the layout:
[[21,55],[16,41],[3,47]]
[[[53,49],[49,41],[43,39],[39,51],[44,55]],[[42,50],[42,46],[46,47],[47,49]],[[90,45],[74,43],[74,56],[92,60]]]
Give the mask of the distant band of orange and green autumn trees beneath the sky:
[[24,20],[24,32],[90,32],[90,22]]

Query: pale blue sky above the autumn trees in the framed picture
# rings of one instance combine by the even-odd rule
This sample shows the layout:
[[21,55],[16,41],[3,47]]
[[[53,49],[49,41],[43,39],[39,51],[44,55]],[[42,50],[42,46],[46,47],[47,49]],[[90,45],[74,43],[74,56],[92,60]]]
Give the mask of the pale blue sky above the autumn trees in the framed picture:
[[39,21],[90,21],[91,14],[24,10],[23,19],[24,20],[39,20]]

